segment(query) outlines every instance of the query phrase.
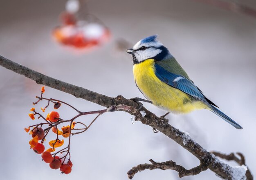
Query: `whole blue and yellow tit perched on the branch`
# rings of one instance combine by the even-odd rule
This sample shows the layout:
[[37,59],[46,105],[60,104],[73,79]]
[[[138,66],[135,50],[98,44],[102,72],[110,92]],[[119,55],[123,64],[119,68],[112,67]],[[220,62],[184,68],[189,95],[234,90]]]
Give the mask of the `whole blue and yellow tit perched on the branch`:
[[132,54],[136,86],[155,106],[173,113],[208,109],[235,128],[243,129],[204,96],[157,36],[144,38],[126,51]]

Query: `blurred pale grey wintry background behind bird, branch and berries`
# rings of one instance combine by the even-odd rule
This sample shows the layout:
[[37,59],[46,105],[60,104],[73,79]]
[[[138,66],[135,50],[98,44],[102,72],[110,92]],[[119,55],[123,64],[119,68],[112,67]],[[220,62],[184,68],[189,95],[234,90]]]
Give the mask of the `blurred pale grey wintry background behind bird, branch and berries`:
[[[244,129],[237,130],[204,110],[188,115],[170,114],[169,123],[189,132],[209,151],[242,152],[246,164],[256,174],[256,18],[196,0],[90,0],[88,11],[108,27],[111,36],[100,47],[85,52],[53,40],[52,31],[61,25],[58,17],[66,2],[0,0],[0,55],[107,96],[143,98],[133,80],[131,57],[124,49],[141,38],[158,34],[204,94]],[[234,2],[256,8],[254,0]],[[130,168],[149,163],[151,158],[157,162],[173,160],[186,169],[199,164],[197,158],[162,133],[153,133],[140,122],[132,124],[128,113],[115,112],[100,116],[88,131],[72,136],[74,166],[72,173],[61,175],[29,149],[31,136],[24,131],[24,127],[39,122],[32,121],[28,113],[42,85],[2,67],[0,82],[1,180],[125,180]],[[44,96],[68,102],[81,111],[103,109],[48,87]],[[41,102],[35,107],[39,110],[46,104]],[[159,116],[165,113],[151,104],[144,106]],[[52,107],[45,116],[49,111]],[[58,112],[64,119],[76,115],[64,105]],[[93,118],[85,116],[79,120],[88,123]],[[172,170],[146,170],[134,179],[179,178]],[[207,170],[182,179],[220,178]]]

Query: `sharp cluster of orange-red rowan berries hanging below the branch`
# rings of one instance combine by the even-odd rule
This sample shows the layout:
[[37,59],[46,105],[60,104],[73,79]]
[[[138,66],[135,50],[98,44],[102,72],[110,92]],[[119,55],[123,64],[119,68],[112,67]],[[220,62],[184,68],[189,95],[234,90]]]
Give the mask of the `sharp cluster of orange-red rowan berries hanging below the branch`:
[[[43,116],[41,113],[36,111],[36,108],[33,107],[30,109],[31,113],[29,113],[29,117],[32,120],[35,120],[37,117],[38,120],[43,120],[35,125],[31,125],[28,128],[25,127],[25,131],[29,132],[29,135],[32,136],[32,139],[29,141],[30,149],[33,149],[34,152],[41,154],[41,157],[44,162],[49,163],[49,167],[52,169],[60,169],[62,173],[69,174],[72,171],[72,162],[70,160],[70,138],[71,135],[79,134],[85,132],[92,123],[102,114],[107,112],[107,109],[99,110],[99,111],[90,111],[90,112],[81,112],[76,108],[72,107],[70,104],[66,102],[52,99],[52,98],[43,98],[43,93],[45,93],[45,88],[41,89],[41,96],[36,96],[38,99],[37,102],[33,102],[34,105],[38,104],[38,102],[42,100],[48,101],[48,104],[43,108],[41,107],[41,111],[44,113],[47,107],[50,104],[53,104],[54,109],[58,109],[61,107],[61,104],[65,104],[75,111],[78,112],[78,115],[74,116],[70,120],[64,120],[60,117],[60,114],[57,111],[50,111],[46,116]],[[83,122],[75,122],[74,120],[79,116],[87,115],[87,114],[98,114],[92,122],[87,126]],[[63,123],[65,126],[63,126]],[[68,125],[66,124],[68,123]],[[82,127],[75,129],[75,125],[79,124]],[[62,127],[59,129],[58,127]],[[31,129],[31,130],[30,130]],[[74,133],[72,131],[75,131]],[[47,145],[49,148],[45,150],[45,137],[52,132],[56,135],[56,139],[50,140]],[[67,147],[56,151],[56,148],[63,146],[64,139],[60,139],[60,137],[68,139]],[[56,152],[55,152],[56,151]]]

